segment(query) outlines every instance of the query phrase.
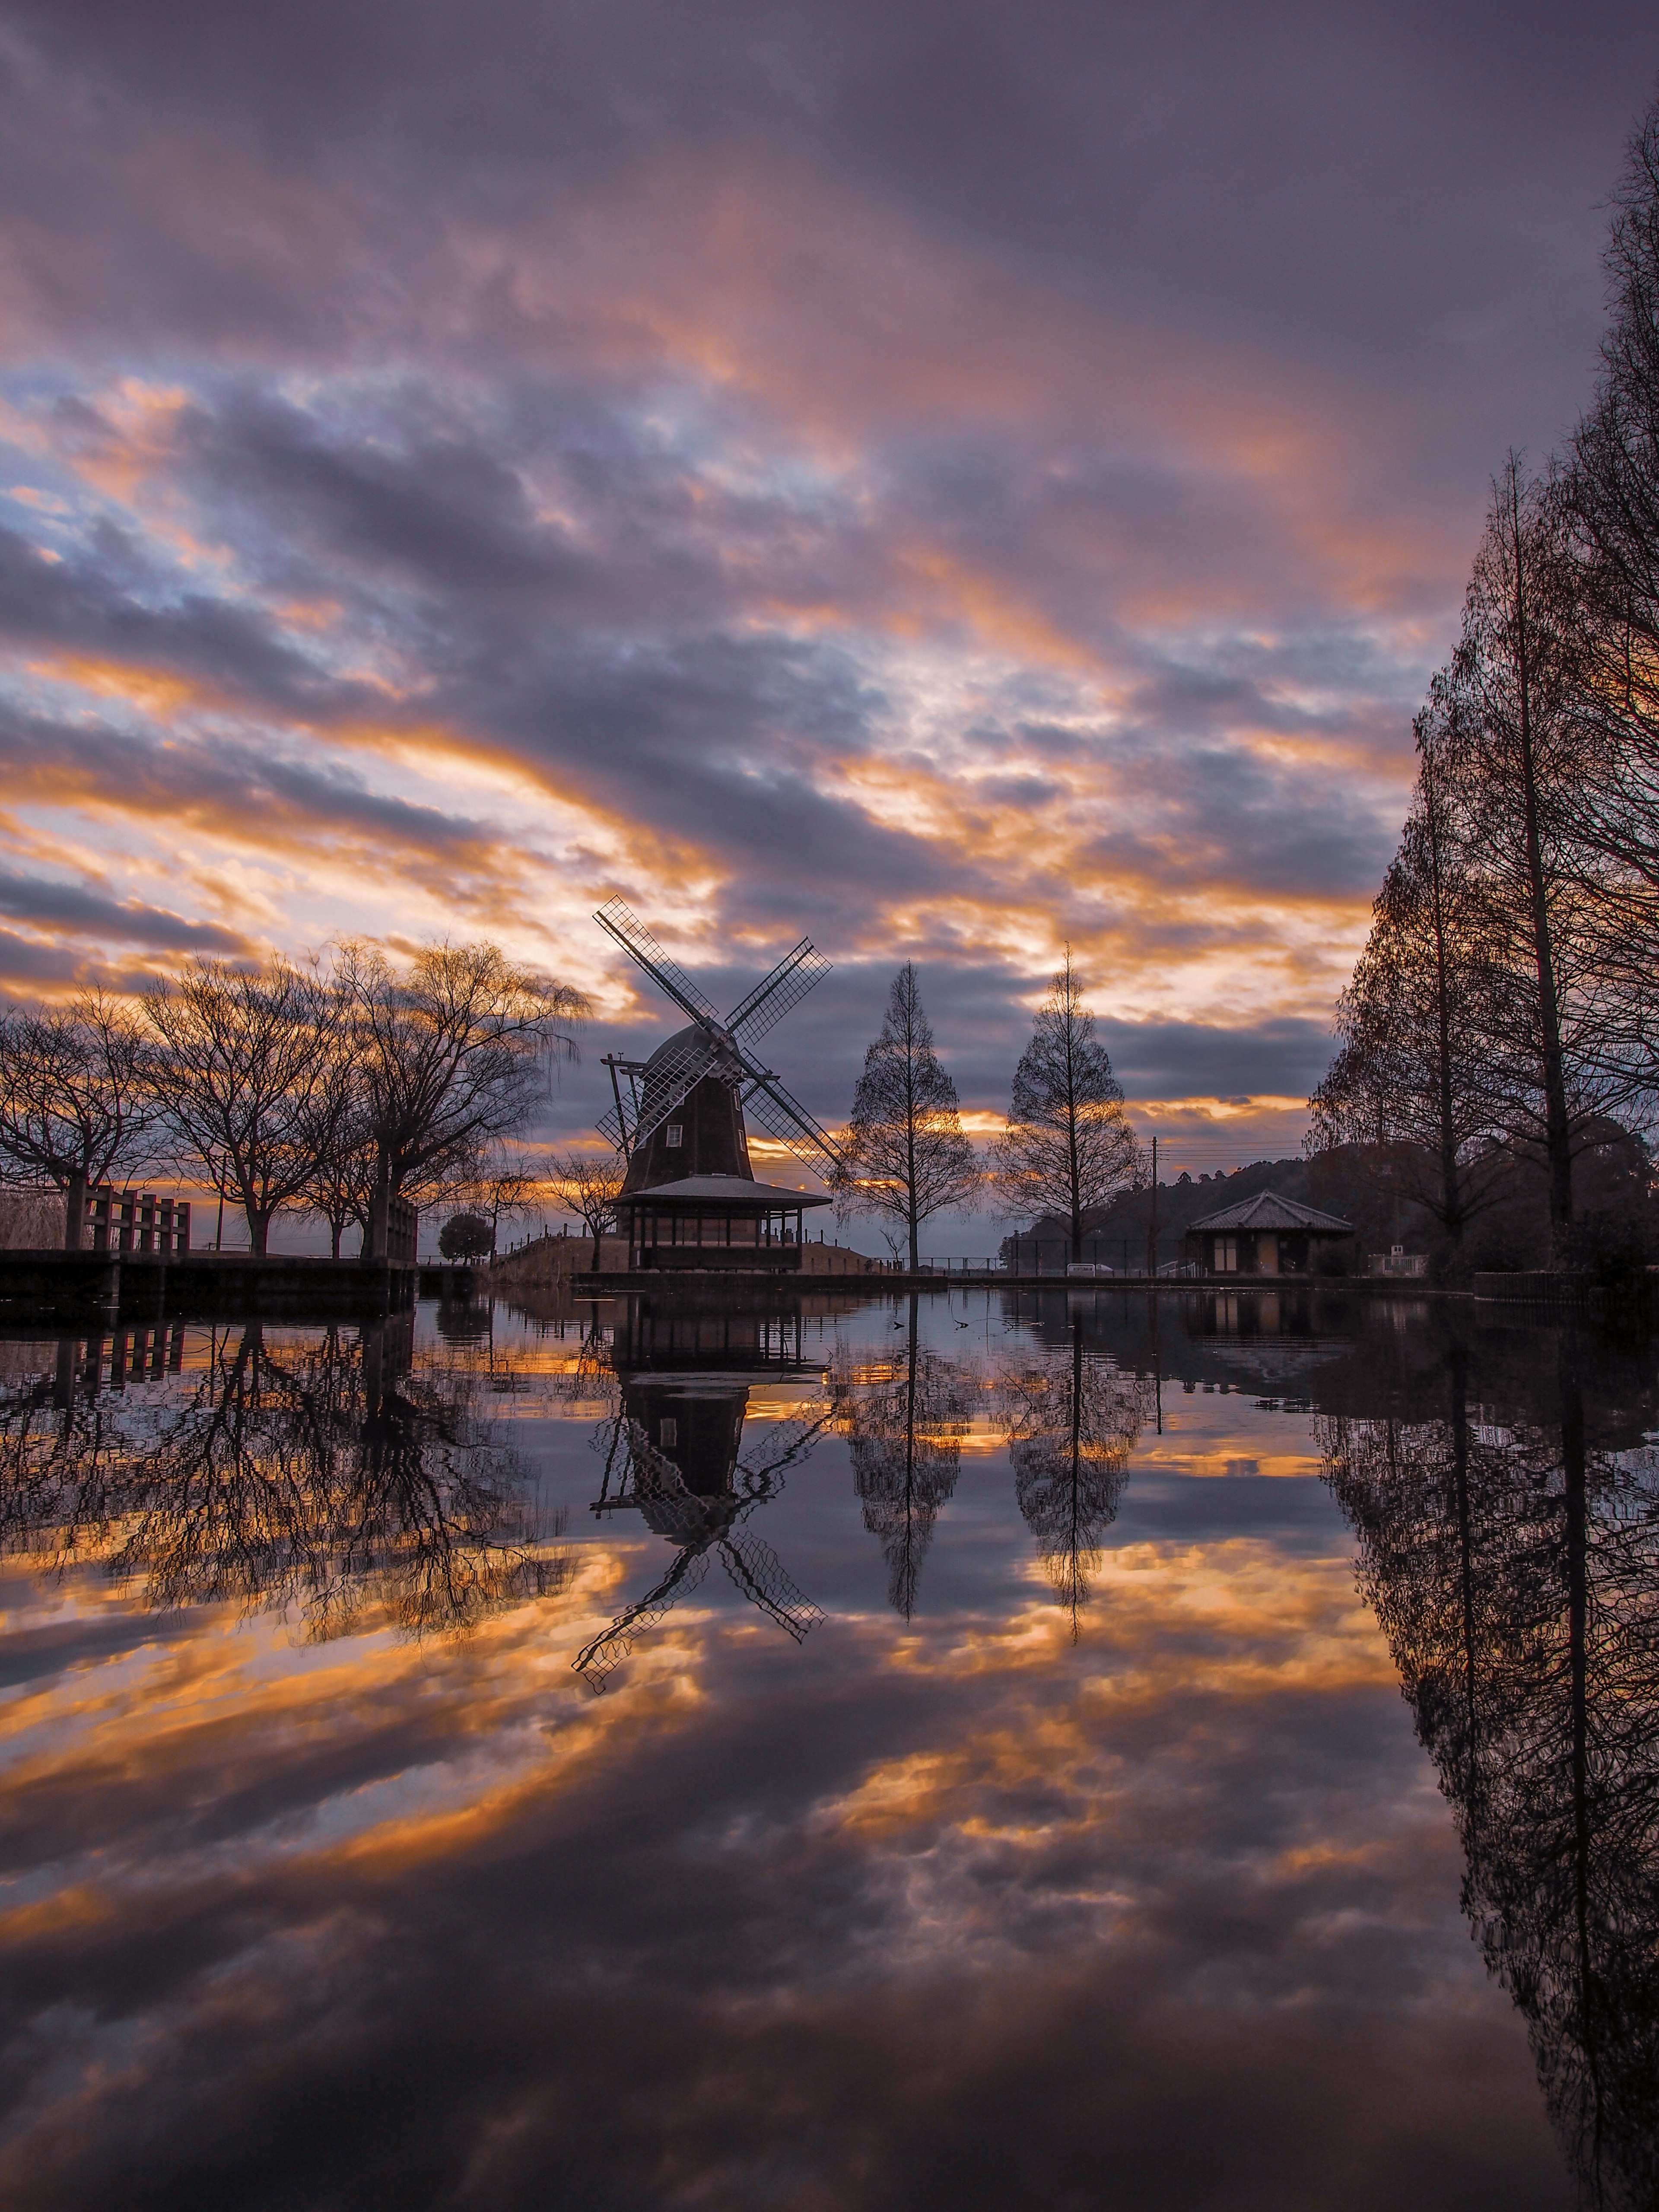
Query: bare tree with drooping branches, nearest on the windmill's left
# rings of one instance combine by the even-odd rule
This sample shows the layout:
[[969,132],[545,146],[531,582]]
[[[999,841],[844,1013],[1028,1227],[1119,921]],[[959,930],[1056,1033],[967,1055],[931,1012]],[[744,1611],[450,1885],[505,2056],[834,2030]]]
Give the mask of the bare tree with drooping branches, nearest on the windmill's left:
[[564,1024],[588,1004],[489,942],[427,945],[403,973],[347,945],[338,989],[374,1139],[365,1252],[385,1259],[392,1201],[442,1190],[491,1139],[522,1128],[549,1055],[575,1057]]

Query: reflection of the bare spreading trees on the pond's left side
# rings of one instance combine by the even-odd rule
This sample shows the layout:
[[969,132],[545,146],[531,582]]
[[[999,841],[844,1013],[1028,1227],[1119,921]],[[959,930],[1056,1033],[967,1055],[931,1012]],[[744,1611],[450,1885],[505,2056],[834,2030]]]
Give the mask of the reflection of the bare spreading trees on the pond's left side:
[[0,1400],[0,1544],[100,1562],[155,1608],[292,1613],[310,1639],[473,1626],[562,1588],[522,1458],[476,1378],[411,1369],[411,1316],[270,1340],[212,1334],[166,1391]]

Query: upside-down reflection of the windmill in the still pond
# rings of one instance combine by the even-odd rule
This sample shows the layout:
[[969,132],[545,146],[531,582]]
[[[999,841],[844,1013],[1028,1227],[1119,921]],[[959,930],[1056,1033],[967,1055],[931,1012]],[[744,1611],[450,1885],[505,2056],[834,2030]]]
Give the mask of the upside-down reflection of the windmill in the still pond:
[[[604,1478],[593,1513],[637,1511],[675,1546],[657,1582],[573,1659],[597,1694],[637,1639],[719,1564],[732,1584],[796,1644],[823,1613],[745,1522],[776,1498],[830,1422],[823,1367],[803,1358],[801,1316],[659,1305],[630,1298],[613,1345],[622,1402],[595,1444]],[[810,1380],[807,1405],[768,1420],[743,1451],[750,1391],[759,1383]]]

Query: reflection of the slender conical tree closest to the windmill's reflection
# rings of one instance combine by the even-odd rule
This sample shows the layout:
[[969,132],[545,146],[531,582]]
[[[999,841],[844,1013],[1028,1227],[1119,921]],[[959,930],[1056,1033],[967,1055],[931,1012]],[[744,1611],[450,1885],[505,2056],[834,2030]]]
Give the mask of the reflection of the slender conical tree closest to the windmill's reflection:
[[920,1343],[916,1292],[909,1323],[896,1329],[905,1343],[894,1356],[836,1369],[836,1407],[865,1528],[880,1540],[887,1562],[887,1601],[911,1619],[933,1522],[962,1471],[962,1438],[978,1394],[969,1367]]

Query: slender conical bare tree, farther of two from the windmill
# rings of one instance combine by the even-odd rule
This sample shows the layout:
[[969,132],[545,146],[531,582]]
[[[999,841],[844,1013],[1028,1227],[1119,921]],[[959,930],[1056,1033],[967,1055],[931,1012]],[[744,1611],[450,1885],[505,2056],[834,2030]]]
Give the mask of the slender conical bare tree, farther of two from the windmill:
[[1139,1183],[1139,1148],[1124,1093],[1066,947],[1031,1044],[1013,1071],[1009,1126],[993,1150],[1006,1214],[1060,1214],[1071,1256],[1084,1256],[1086,1217]]

